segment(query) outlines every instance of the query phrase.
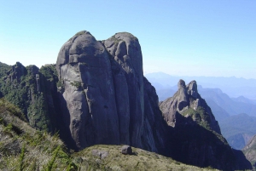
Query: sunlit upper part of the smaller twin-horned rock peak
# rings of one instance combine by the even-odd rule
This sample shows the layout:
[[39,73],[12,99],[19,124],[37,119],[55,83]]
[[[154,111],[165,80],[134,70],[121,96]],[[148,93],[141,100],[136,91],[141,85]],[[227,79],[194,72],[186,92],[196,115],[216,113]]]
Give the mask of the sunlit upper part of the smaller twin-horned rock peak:
[[184,124],[180,122],[180,116],[189,117],[195,123],[220,134],[218,122],[207,102],[198,94],[196,82],[192,81],[186,86],[180,80],[177,87],[177,93],[160,104],[160,110],[168,125],[175,127],[177,124]]

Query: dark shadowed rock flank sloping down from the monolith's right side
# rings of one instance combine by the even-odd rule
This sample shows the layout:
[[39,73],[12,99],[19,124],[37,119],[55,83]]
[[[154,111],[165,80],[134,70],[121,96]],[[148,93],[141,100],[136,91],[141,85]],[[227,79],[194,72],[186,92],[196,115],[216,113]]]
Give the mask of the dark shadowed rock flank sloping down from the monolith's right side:
[[168,126],[161,115],[155,88],[146,77],[144,77],[144,107],[143,147],[167,156]]

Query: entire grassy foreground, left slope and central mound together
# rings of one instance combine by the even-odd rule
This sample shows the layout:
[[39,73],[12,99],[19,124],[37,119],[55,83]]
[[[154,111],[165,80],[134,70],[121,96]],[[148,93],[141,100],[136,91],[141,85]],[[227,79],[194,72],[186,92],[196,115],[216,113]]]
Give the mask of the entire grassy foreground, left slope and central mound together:
[[[94,145],[68,152],[58,136],[40,132],[26,123],[19,108],[0,100],[0,170],[209,170],[176,162],[153,152],[121,145]],[[106,153],[105,157],[100,155]],[[71,155],[70,155],[71,154]]]

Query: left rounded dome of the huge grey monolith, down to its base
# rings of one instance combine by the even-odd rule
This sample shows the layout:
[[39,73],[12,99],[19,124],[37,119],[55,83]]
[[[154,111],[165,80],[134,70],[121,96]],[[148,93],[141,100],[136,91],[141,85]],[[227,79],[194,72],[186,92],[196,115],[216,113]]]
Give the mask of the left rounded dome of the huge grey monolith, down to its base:
[[65,124],[76,146],[119,144],[113,77],[102,43],[88,31],[79,32],[61,48],[56,68],[67,103]]

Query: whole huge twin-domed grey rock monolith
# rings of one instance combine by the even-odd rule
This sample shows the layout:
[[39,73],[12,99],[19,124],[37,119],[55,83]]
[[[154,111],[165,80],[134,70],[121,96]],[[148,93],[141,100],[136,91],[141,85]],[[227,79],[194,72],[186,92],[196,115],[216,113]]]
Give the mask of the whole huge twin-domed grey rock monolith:
[[[99,42],[90,32],[80,31],[62,46],[56,69],[63,123],[69,130],[66,141],[73,148],[95,144],[126,144],[150,151],[163,148],[163,138],[156,139],[162,133],[151,127],[162,128],[160,111],[144,112],[152,105],[144,101],[144,92],[152,86],[147,82],[148,88],[143,88],[137,37],[123,32]],[[154,107],[158,108],[158,98]]]

